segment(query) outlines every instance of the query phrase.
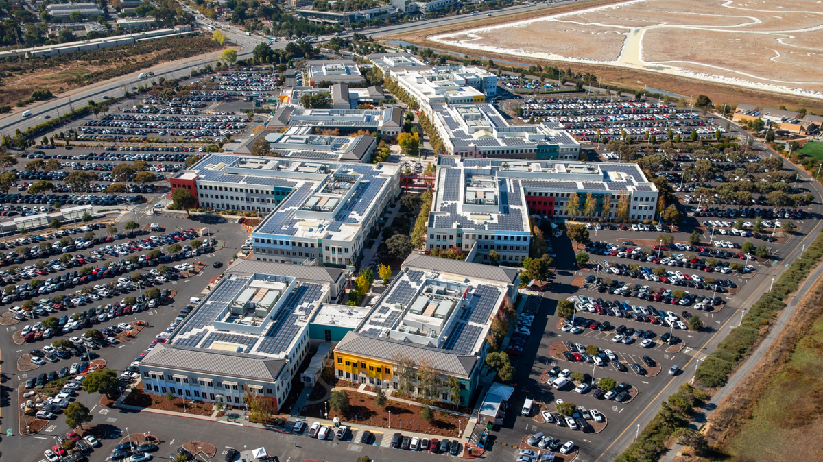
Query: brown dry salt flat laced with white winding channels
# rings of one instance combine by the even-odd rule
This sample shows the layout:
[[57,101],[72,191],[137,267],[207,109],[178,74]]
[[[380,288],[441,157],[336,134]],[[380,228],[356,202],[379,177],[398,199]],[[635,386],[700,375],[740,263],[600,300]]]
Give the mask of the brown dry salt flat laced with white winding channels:
[[813,64],[823,53],[820,7],[817,0],[630,0],[470,30],[430,31],[426,39],[437,48],[518,62],[629,67],[823,99],[823,68]]

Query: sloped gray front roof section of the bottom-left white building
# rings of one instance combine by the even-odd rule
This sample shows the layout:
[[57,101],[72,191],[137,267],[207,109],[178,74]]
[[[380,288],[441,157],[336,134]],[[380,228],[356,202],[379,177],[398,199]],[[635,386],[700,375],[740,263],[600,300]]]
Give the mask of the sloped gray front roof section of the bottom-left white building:
[[201,372],[249,380],[277,380],[285,359],[214,350],[167,347],[156,344],[140,363],[141,367],[167,367],[179,371]]

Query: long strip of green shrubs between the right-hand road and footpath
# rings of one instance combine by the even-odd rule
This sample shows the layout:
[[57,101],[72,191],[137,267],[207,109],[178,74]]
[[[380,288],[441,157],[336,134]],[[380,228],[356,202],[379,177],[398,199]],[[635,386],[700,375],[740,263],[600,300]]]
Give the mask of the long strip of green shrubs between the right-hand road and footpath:
[[[729,374],[740,363],[757,342],[765,337],[775,314],[786,307],[783,302],[795,292],[803,280],[823,256],[823,234],[807,247],[800,258],[793,261],[788,270],[778,280],[770,292],[764,293],[743,316],[741,326],[732,329],[718,344],[714,353],[709,354],[697,368],[697,385],[717,388],[726,384]],[[676,432],[685,431],[696,405],[707,399],[709,394],[700,389],[683,384],[677,393],[669,396],[658,414],[647,425],[639,438],[630,444],[616,462],[653,462],[666,450],[666,441]]]

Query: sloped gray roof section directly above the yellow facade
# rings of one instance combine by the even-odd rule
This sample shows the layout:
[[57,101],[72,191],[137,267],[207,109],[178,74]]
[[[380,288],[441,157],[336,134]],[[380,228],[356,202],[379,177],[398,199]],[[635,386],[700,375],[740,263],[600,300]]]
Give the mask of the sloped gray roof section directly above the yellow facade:
[[392,361],[398,354],[402,354],[402,356],[412,359],[415,363],[425,359],[435,369],[460,377],[471,376],[472,369],[478,361],[478,358],[472,355],[445,353],[418,344],[402,344],[393,340],[360,335],[355,332],[347,332],[334,351],[364,355],[387,361]]

